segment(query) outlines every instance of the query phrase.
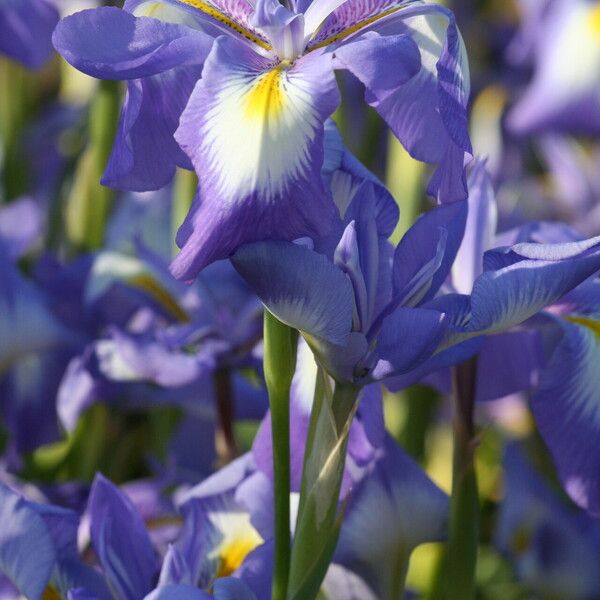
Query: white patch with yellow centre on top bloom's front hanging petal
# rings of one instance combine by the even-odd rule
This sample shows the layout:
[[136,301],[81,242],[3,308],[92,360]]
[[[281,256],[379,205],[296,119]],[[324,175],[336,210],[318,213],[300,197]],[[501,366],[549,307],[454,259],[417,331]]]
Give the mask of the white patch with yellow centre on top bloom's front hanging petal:
[[309,83],[282,66],[259,73],[239,67],[223,74],[215,96],[199,135],[223,201],[284,194],[308,170],[319,126]]

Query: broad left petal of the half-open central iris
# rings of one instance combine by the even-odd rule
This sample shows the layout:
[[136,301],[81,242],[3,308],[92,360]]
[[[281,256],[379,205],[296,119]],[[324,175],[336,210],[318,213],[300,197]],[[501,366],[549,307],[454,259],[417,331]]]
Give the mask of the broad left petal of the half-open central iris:
[[352,288],[321,254],[289,242],[257,242],[232,257],[238,273],[281,321],[344,345],[352,327]]

